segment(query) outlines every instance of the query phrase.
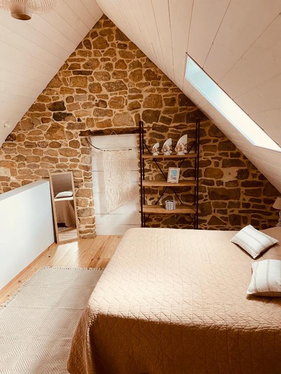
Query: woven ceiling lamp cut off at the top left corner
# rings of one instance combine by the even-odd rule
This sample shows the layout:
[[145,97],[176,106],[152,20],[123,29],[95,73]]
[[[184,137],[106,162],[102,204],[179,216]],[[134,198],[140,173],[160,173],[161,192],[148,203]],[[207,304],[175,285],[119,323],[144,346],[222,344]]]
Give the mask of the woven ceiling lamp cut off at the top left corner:
[[31,19],[33,13],[44,14],[50,12],[57,0],[0,0],[0,8],[9,10],[16,19]]

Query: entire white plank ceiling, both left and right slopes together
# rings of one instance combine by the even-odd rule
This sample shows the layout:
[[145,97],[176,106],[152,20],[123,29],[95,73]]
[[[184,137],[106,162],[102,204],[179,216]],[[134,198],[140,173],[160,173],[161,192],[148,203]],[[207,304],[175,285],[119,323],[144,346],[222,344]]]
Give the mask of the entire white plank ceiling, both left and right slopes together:
[[97,3],[58,0],[28,22],[0,11],[0,145],[103,12],[281,191],[281,153],[253,146],[184,78],[187,52],[281,145],[281,0]]

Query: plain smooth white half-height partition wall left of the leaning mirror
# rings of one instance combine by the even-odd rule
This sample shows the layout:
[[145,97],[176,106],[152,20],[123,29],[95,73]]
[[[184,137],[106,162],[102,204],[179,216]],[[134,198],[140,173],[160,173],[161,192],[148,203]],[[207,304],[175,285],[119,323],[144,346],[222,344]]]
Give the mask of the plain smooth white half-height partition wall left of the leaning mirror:
[[49,181],[0,195],[0,289],[54,243]]

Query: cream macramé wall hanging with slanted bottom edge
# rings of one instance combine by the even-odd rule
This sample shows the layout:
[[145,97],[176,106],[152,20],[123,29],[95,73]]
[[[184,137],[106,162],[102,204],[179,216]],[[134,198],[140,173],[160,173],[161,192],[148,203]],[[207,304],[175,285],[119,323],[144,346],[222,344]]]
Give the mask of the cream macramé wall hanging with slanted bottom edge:
[[110,212],[132,198],[128,150],[102,152],[106,210]]

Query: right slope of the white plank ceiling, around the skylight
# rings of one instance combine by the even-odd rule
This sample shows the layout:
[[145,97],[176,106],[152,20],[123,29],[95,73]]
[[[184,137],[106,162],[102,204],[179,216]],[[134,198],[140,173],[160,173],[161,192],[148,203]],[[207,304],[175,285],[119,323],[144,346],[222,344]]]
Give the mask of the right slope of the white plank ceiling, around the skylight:
[[281,145],[281,0],[97,2],[281,191],[281,153],[253,146],[184,78],[187,52]]

